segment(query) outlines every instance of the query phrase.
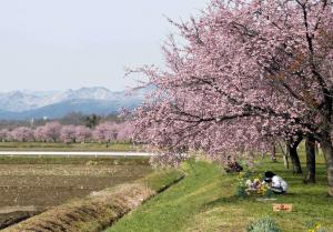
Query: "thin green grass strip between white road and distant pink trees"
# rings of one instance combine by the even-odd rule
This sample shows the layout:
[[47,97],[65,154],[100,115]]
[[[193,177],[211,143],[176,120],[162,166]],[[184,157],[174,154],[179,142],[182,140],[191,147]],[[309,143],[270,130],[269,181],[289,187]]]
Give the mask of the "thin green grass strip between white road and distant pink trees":
[[0,142],[0,151],[137,151],[131,143]]

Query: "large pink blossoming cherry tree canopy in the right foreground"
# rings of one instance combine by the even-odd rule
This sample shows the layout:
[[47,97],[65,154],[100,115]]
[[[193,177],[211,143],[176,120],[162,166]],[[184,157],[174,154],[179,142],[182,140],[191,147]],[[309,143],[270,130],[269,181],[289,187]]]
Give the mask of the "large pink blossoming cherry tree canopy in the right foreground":
[[134,113],[137,141],[173,163],[190,150],[229,160],[283,141],[295,173],[300,142],[307,171],[319,142],[333,195],[332,1],[212,0],[198,20],[171,22],[182,42],[167,42],[168,69],[135,70],[154,87]]

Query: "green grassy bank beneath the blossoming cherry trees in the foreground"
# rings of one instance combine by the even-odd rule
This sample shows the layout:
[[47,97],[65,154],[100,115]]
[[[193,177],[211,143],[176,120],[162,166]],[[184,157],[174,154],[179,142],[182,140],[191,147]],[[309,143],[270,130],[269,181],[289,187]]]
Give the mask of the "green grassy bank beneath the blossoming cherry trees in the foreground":
[[[304,163],[304,151],[301,151]],[[333,199],[326,193],[323,157],[319,155],[317,183],[303,184],[302,176],[279,163],[259,160],[255,172],[273,170],[290,184],[286,195],[276,195],[274,203],[292,203],[293,212],[273,212],[272,202],[256,201],[258,196],[235,196],[236,174],[225,174],[208,162],[184,163],[188,175],[178,184],[132,211],[105,232],[150,231],[245,231],[255,219],[270,216],[284,232],[307,232],[306,223],[315,221],[333,231]],[[275,198],[275,196],[274,196]]]

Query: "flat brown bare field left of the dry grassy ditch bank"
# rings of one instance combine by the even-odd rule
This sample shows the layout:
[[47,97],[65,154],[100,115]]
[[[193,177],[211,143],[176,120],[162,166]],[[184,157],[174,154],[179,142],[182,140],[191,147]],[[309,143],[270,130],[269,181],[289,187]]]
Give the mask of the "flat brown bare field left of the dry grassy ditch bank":
[[149,172],[145,158],[0,158],[0,229]]

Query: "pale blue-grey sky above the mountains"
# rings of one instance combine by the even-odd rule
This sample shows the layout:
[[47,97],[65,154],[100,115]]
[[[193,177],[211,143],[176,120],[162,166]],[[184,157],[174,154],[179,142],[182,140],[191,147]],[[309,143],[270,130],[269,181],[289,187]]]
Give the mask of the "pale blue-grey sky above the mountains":
[[127,67],[163,65],[175,31],[167,18],[198,16],[209,0],[0,0],[0,92],[105,87],[137,78]]

